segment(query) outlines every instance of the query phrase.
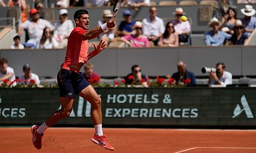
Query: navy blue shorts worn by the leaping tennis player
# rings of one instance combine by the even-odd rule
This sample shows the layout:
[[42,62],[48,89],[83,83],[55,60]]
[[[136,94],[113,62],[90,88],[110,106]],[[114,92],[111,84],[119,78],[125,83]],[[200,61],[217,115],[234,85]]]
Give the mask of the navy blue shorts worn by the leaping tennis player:
[[57,75],[60,97],[75,98],[90,83],[84,79],[82,72],[76,73],[61,68]]

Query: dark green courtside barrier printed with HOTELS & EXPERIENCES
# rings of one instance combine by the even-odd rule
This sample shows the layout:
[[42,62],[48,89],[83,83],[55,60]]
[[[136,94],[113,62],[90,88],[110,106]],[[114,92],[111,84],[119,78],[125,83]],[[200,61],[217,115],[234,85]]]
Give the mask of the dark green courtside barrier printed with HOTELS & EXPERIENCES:
[[[103,125],[255,128],[256,88],[96,88]],[[41,124],[60,109],[58,88],[1,88],[0,125]],[[56,126],[90,127],[91,105],[76,97]]]

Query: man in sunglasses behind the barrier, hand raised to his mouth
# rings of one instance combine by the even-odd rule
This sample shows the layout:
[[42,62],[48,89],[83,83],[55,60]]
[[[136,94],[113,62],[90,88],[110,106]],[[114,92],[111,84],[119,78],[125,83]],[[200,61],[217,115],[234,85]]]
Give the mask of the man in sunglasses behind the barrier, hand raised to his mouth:
[[[131,68],[132,73],[128,74],[124,79],[126,84],[142,84],[147,86],[148,76],[141,73],[141,68],[138,65],[134,65]],[[143,83],[145,82],[145,83]]]

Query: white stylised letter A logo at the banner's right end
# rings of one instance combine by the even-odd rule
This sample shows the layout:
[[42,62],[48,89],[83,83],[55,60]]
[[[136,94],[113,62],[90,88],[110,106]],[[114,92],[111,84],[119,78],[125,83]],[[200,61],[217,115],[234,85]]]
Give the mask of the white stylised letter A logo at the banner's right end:
[[247,116],[247,118],[253,118],[253,115],[252,115],[252,111],[251,111],[251,108],[245,98],[245,95],[243,95],[241,97],[241,104],[242,104],[242,108],[240,107],[239,104],[237,104],[236,108],[234,109],[234,115],[232,116],[232,118],[235,118],[237,117],[238,115],[240,115],[243,111],[245,111],[245,114]]

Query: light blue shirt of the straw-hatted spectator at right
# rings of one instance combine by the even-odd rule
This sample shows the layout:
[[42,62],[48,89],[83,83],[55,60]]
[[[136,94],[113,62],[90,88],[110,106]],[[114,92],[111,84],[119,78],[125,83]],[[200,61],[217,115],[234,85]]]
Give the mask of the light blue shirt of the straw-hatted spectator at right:
[[217,37],[214,37],[212,31],[208,31],[204,35],[204,44],[205,45],[213,45],[213,46],[222,46],[226,39],[231,38],[232,35],[223,32],[217,31]]

